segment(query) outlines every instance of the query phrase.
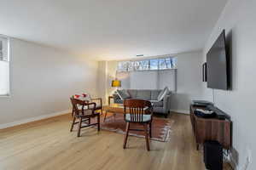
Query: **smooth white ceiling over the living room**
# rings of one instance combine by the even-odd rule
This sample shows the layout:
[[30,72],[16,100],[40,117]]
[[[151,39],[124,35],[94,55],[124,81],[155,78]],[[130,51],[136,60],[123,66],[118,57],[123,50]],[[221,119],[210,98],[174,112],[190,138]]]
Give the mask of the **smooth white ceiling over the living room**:
[[0,0],[0,34],[125,59],[201,49],[227,0]]

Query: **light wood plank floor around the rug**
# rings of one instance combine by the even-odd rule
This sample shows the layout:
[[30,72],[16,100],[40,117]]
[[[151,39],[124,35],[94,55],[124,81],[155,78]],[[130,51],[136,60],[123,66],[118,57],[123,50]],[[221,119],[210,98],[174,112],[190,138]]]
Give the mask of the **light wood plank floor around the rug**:
[[[69,133],[70,115],[56,116],[39,122],[0,130],[0,169],[119,169],[119,170],[201,170],[205,169],[195,140],[189,116],[172,114],[171,141],[128,138],[124,135],[83,128],[82,136]],[[230,169],[225,167],[225,169]]]

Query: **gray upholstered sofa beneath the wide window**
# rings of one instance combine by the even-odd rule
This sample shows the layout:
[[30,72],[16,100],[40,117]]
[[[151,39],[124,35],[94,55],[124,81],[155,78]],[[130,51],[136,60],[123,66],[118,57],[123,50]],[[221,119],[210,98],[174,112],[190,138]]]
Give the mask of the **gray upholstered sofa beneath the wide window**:
[[[153,104],[154,113],[159,113],[168,116],[171,109],[171,92],[166,94],[161,101],[157,100],[161,90],[142,90],[142,89],[125,89],[130,94],[131,99],[146,99]],[[113,102],[122,104],[123,100],[119,98],[118,94],[113,94]]]

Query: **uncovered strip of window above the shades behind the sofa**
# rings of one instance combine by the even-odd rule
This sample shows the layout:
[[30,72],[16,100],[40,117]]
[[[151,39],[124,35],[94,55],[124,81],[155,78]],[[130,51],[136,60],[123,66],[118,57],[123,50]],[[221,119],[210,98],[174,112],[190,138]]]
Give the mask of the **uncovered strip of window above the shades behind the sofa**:
[[134,61],[119,61],[118,71],[154,71],[175,69],[176,59],[172,57],[161,59],[143,59]]

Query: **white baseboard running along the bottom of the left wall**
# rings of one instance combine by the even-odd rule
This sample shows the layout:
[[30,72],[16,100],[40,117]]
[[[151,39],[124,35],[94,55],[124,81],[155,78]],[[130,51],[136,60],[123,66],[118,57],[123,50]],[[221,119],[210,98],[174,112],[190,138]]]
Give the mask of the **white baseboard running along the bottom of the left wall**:
[[20,125],[20,124],[25,124],[25,123],[27,123],[27,122],[35,122],[35,121],[47,119],[47,118],[53,117],[53,116],[65,115],[65,114],[67,114],[67,113],[71,113],[71,110],[58,111],[58,112],[51,113],[51,114],[48,114],[48,115],[35,116],[35,117],[27,118],[27,119],[22,119],[22,120],[20,120],[20,121],[15,121],[15,122],[9,122],[9,123],[5,123],[5,124],[0,124],[0,129],[7,128],[7,127],[14,127],[14,126],[17,126],[17,125]]

